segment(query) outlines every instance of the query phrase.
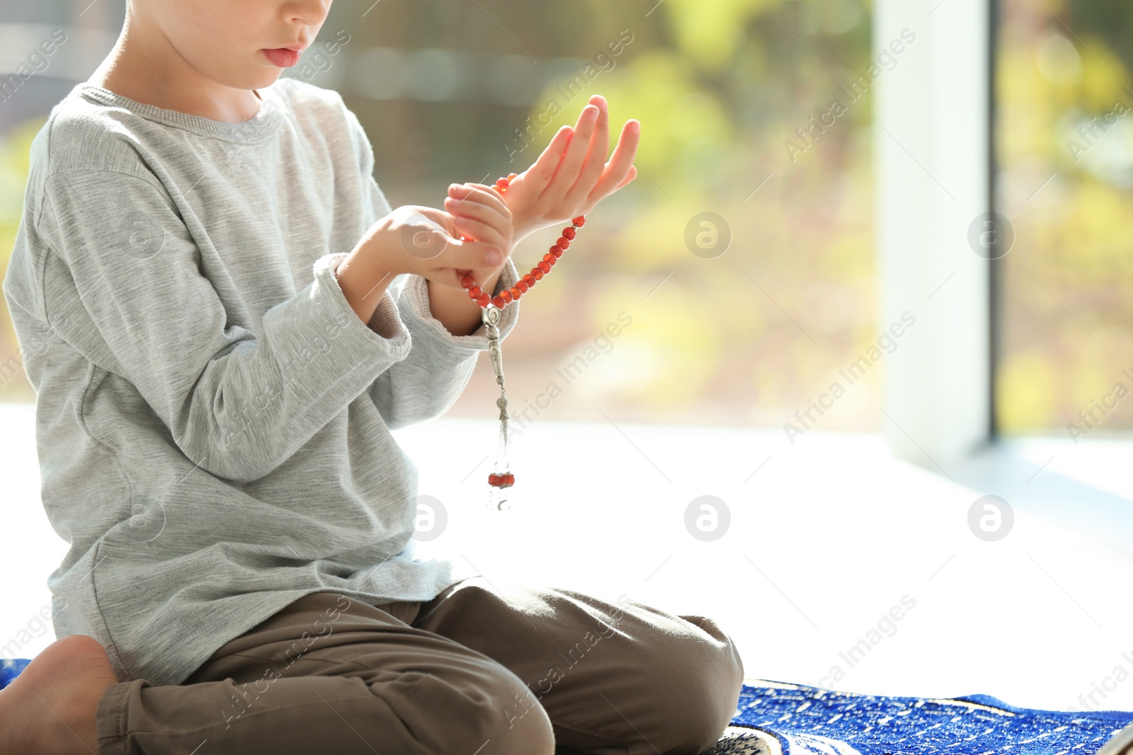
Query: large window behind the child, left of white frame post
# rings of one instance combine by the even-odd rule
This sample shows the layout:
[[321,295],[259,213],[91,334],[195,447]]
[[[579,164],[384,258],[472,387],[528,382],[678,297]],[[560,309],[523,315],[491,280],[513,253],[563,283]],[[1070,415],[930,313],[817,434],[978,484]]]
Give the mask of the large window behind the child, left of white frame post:
[[[33,18],[41,6],[70,15]],[[28,140],[122,20],[110,5],[82,19],[41,6],[11,25],[26,37],[11,49],[34,49],[35,24],[101,32],[17,94],[34,108],[3,134],[0,265]],[[877,429],[889,336],[876,324],[871,123],[877,83],[909,53],[900,34],[902,52],[871,51],[869,2],[338,0],[320,40],[340,46],[316,43],[286,75],[342,93],[394,206],[521,171],[591,94],[617,126],[644,122],[636,183],[522,302],[504,350],[513,413]],[[521,247],[517,266],[556,235]],[[0,361],[18,360],[3,320]],[[491,417],[496,391],[485,362],[450,413]],[[32,398],[22,370],[0,397]]]

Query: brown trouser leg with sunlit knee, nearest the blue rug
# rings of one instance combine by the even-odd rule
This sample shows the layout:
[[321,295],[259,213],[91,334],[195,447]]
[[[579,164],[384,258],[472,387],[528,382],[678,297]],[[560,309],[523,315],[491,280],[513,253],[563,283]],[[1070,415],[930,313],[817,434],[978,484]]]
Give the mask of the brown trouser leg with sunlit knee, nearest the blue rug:
[[412,625],[513,671],[526,686],[506,702],[509,723],[545,710],[560,752],[699,754],[734,717],[743,684],[712,619],[570,590],[472,577],[424,603]]

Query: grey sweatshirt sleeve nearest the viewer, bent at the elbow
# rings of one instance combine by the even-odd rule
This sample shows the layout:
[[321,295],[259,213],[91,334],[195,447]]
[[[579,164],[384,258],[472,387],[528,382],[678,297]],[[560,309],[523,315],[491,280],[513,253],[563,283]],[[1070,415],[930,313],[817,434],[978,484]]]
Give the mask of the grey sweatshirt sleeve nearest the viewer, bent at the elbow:
[[[129,380],[185,455],[257,480],[402,360],[410,336],[386,291],[370,325],[334,277],[342,255],[263,316],[227,311],[161,183],[112,170],[56,173],[36,221],[46,241],[42,304],[96,366]],[[247,250],[269,254],[269,250]],[[231,282],[227,282],[231,285]]]

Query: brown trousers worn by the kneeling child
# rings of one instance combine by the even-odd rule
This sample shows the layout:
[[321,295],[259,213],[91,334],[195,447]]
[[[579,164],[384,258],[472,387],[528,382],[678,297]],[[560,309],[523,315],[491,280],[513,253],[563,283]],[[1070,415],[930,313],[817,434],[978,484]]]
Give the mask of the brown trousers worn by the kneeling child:
[[109,687],[97,755],[701,753],[743,666],[712,619],[483,577],[427,602],[304,595],[181,685]]

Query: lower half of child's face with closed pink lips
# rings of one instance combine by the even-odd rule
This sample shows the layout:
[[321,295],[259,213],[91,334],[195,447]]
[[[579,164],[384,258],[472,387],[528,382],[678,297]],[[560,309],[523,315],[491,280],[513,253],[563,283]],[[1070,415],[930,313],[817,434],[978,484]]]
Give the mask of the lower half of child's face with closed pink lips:
[[[270,86],[293,62],[265,54],[310,46],[333,0],[131,0],[139,23],[161,29],[174,54],[240,89]],[[290,55],[293,60],[295,55]]]

